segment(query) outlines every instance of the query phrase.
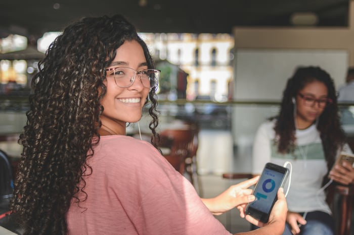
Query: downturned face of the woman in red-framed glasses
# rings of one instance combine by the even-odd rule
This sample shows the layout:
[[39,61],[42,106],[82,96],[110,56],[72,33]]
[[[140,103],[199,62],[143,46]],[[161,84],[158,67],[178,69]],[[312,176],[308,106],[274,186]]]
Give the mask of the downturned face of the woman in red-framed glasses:
[[[301,97],[305,96],[305,97]],[[313,105],[305,105],[305,98],[326,99],[328,89],[326,85],[317,80],[309,82],[304,88],[299,90],[296,95],[296,122],[299,129],[305,129],[311,126],[316,119],[322,114],[326,106],[319,107],[318,102]]]

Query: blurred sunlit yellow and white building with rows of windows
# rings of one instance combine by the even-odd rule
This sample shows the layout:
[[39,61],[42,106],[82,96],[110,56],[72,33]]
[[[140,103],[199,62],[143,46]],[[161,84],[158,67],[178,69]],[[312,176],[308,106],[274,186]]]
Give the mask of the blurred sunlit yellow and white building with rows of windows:
[[233,87],[234,38],[230,34],[141,33],[155,61],[167,60],[188,74],[186,97],[227,101]]

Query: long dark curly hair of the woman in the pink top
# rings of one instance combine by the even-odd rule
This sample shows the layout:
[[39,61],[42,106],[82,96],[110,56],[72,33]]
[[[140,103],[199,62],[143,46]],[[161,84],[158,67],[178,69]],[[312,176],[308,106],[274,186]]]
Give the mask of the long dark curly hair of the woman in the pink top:
[[[23,153],[11,205],[25,234],[67,233],[66,213],[73,198],[80,202],[75,195],[84,193],[83,175],[92,170],[86,159],[100,140],[105,68],[126,40],[140,43],[148,68],[153,69],[147,45],[119,15],[73,23],[39,62],[27,123],[19,139]],[[152,117],[152,143],[157,147],[155,89],[150,90],[146,105]],[[97,141],[94,136],[99,137]]]

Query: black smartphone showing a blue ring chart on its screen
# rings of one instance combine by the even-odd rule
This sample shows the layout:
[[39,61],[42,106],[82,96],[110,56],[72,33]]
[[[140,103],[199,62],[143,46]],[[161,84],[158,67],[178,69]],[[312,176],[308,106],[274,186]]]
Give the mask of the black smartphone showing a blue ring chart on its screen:
[[263,223],[267,223],[274,203],[278,199],[278,189],[284,186],[288,178],[288,172],[289,170],[283,166],[270,162],[265,164],[253,191],[256,200],[247,204],[245,213]]

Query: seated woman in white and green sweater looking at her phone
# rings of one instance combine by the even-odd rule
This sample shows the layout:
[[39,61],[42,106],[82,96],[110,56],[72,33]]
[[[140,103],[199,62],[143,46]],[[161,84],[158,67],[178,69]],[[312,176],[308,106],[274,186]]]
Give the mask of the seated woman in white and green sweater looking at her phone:
[[340,151],[350,149],[339,124],[333,80],[319,67],[298,68],[287,82],[279,115],[259,127],[253,144],[254,173],[269,161],[291,162],[284,234],[334,233],[323,180],[328,173],[341,184],[354,180],[348,162],[330,171]]

